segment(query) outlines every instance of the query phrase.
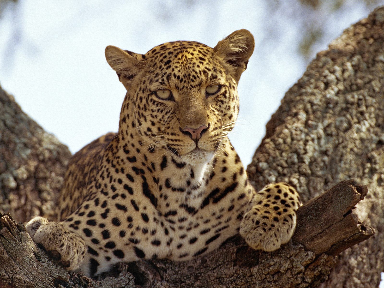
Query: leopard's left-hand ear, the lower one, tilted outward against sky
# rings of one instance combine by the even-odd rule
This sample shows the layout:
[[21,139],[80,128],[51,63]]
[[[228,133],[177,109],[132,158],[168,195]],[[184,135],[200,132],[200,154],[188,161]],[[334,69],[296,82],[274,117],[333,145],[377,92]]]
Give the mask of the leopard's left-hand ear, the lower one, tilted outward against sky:
[[119,80],[124,86],[129,85],[131,80],[139,73],[142,65],[139,58],[144,59],[143,55],[122,50],[116,46],[105,48],[105,58],[113,70],[119,76]]

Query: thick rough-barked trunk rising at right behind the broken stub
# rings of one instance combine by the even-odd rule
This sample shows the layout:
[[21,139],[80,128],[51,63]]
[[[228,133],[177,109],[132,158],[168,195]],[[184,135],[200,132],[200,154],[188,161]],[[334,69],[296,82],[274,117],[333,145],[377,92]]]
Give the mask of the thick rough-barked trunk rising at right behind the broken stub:
[[345,251],[322,288],[378,287],[384,269],[384,8],[346,29],[285,94],[247,172],[286,181],[303,200],[344,179],[366,184],[357,206],[376,235]]

